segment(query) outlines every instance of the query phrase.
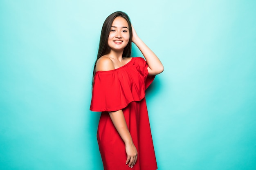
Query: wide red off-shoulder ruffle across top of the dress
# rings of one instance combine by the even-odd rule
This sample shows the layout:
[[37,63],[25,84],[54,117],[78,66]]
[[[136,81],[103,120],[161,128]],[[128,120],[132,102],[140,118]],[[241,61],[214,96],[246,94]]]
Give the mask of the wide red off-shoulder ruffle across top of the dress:
[[140,101],[154,78],[148,75],[148,64],[141,57],[132,57],[126,65],[114,70],[97,71],[90,110],[116,111]]

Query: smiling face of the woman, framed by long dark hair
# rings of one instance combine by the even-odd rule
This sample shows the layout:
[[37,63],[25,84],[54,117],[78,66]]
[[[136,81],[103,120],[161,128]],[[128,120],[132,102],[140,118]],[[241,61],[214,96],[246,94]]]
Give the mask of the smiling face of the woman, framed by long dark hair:
[[108,46],[111,50],[122,51],[129,42],[128,22],[122,18],[117,17],[112,23],[110,33],[108,36]]

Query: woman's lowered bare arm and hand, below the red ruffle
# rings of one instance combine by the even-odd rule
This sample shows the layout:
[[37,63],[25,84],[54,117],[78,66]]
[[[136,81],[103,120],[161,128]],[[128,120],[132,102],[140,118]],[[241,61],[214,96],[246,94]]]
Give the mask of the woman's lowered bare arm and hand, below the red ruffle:
[[133,144],[132,137],[127,128],[124,113],[122,110],[118,110],[115,112],[109,112],[109,115],[115,128],[117,129],[117,132],[124,141],[127,154],[126,164],[129,163],[128,166],[132,168],[137,161],[138,152]]

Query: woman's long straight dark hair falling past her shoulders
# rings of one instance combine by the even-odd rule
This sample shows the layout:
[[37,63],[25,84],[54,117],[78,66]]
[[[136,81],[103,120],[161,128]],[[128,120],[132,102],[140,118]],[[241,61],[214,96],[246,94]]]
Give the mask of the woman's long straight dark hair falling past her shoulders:
[[130,22],[130,18],[128,15],[122,11],[117,11],[112,13],[111,15],[106,18],[105,22],[103,23],[102,29],[101,29],[101,38],[99,40],[99,50],[98,50],[98,55],[97,59],[94,64],[94,69],[93,69],[93,75],[92,75],[92,86],[94,84],[94,75],[95,75],[95,68],[96,68],[96,63],[99,60],[100,57],[103,55],[106,55],[110,53],[110,47],[108,46],[108,36],[111,30],[111,26],[115,18],[117,17],[123,17],[127,22],[129,26],[129,34],[130,34],[130,39],[126,47],[124,48],[124,52],[122,57],[130,57],[131,56],[131,51],[132,51],[132,25]]

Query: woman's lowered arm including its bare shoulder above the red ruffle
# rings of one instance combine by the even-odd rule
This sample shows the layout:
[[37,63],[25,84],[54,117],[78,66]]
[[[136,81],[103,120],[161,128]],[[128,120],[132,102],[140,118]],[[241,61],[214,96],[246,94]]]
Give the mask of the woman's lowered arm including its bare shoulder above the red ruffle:
[[[109,71],[115,69],[112,60],[108,57],[100,57],[96,63],[95,71]],[[110,118],[117,129],[120,137],[123,139],[125,143],[125,149],[127,154],[126,164],[132,168],[137,161],[137,149],[133,144],[132,137],[127,128],[127,124],[124,118],[123,110],[118,110],[114,112],[109,112]]]

